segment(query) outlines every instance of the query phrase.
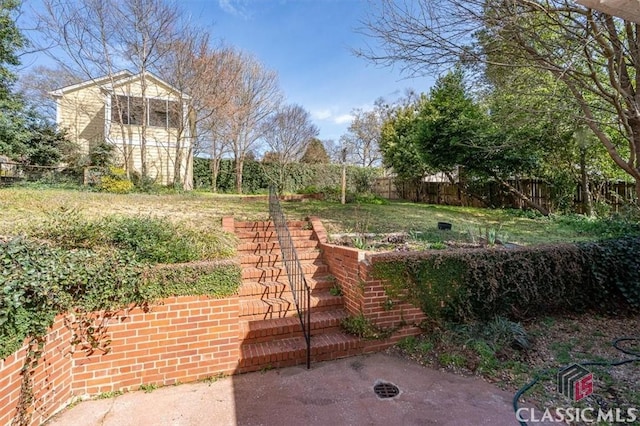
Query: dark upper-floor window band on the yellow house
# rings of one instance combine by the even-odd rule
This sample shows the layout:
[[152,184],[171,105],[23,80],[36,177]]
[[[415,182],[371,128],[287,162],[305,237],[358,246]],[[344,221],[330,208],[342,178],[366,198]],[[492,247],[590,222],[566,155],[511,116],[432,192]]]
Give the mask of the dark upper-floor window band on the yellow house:
[[180,124],[180,104],[164,99],[149,99],[145,114],[142,98],[133,96],[111,97],[111,120],[116,123],[176,128]]

